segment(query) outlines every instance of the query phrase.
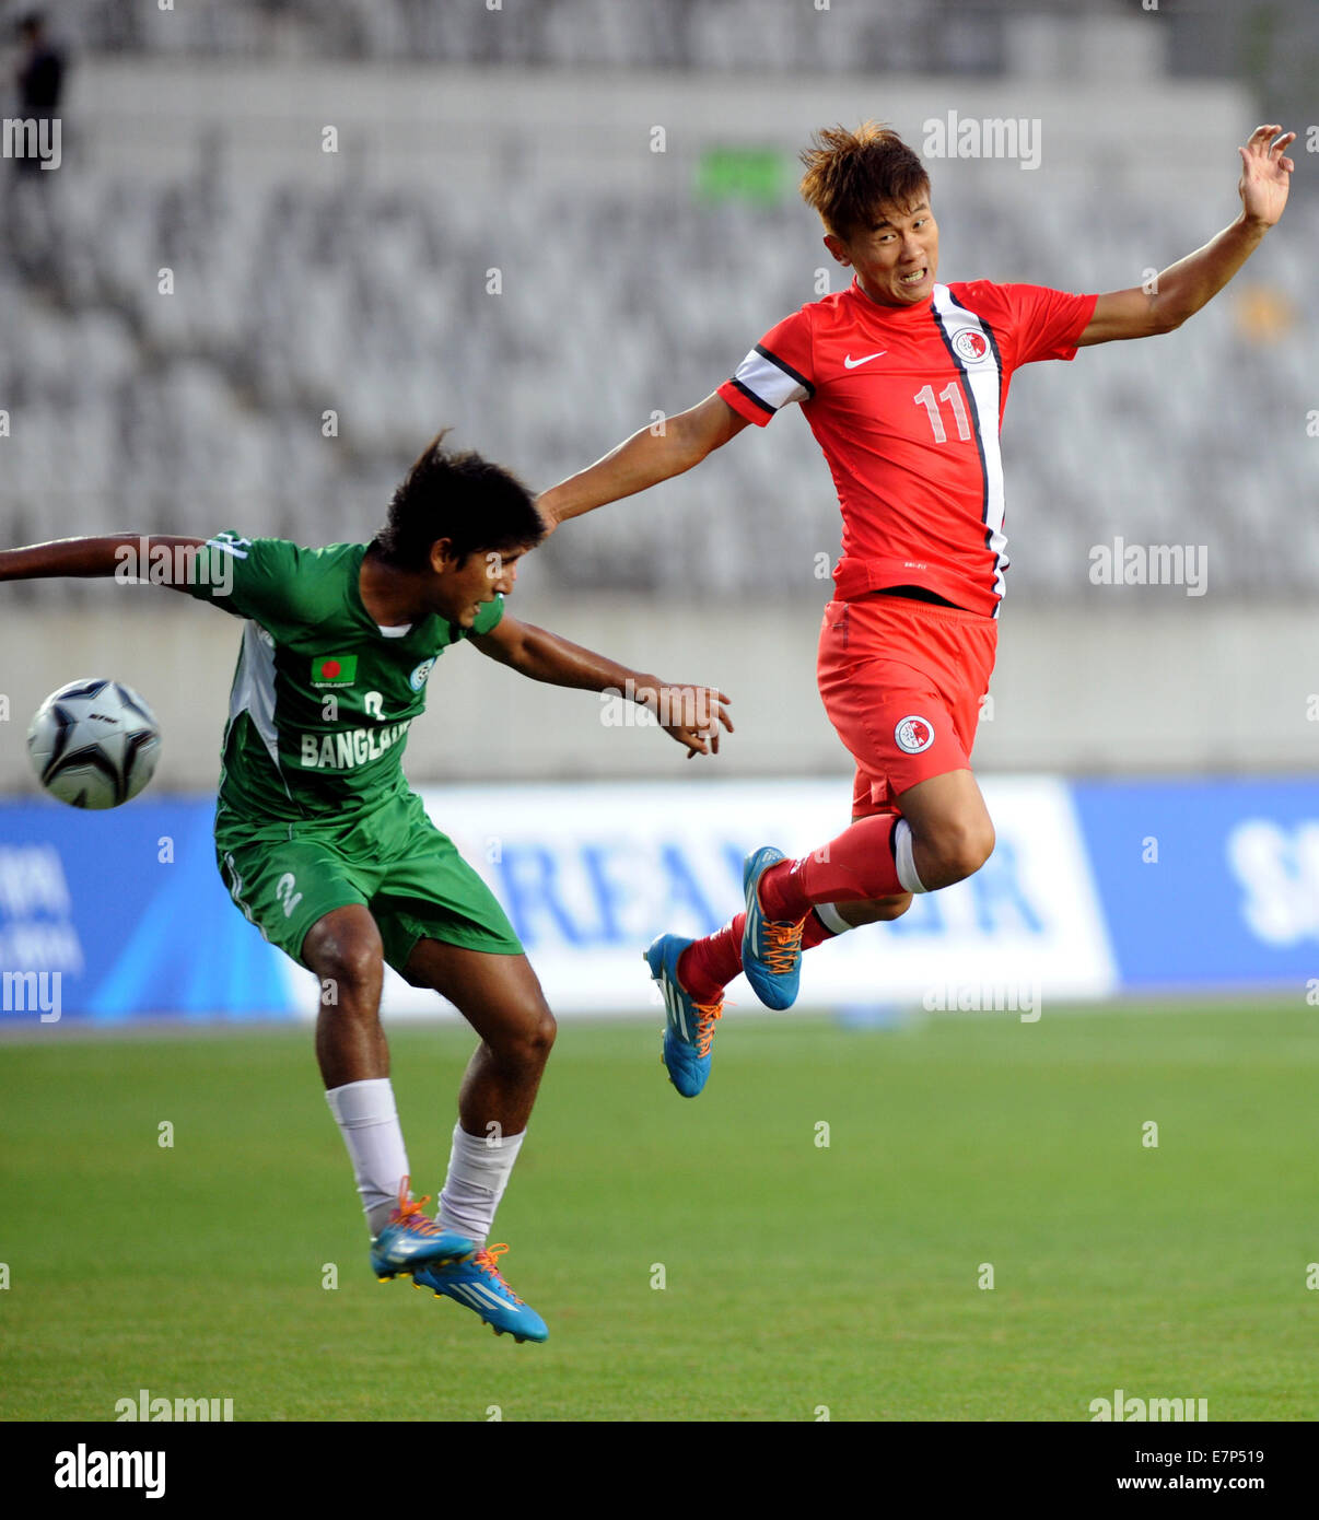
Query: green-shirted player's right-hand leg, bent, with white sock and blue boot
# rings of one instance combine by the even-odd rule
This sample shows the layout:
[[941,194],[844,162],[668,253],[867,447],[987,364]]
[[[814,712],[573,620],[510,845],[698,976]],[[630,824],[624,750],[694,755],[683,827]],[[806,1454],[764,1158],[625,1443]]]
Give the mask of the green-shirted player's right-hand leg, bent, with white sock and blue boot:
[[459,1120],[439,1195],[439,1222],[480,1249],[473,1262],[425,1268],[413,1280],[474,1309],[495,1335],[544,1341],[549,1332],[541,1316],[500,1275],[498,1257],[508,1246],[486,1248],[486,1239],[550,1058],[555,1015],[523,955],[486,955],[421,939],[404,976],[447,997],[480,1035],[459,1091]]

